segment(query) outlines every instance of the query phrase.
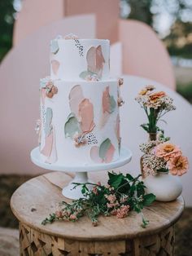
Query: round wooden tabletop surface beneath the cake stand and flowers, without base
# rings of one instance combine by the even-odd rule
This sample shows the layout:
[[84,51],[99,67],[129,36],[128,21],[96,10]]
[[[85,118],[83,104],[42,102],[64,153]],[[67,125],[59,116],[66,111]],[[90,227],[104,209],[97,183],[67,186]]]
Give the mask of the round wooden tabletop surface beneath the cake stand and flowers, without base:
[[11,209],[20,223],[41,233],[60,236],[77,241],[115,241],[157,234],[177,222],[184,209],[180,196],[172,202],[154,202],[143,210],[150,221],[146,228],[141,227],[142,216],[130,212],[127,218],[100,217],[98,227],[93,227],[87,217],[75,223],[57,221],[41,225],[41,221],[55,212],[60,201],[70,201],[62,195],[62,188],[71,181],[63,172],[51,172],[22,184],[11,197]]

